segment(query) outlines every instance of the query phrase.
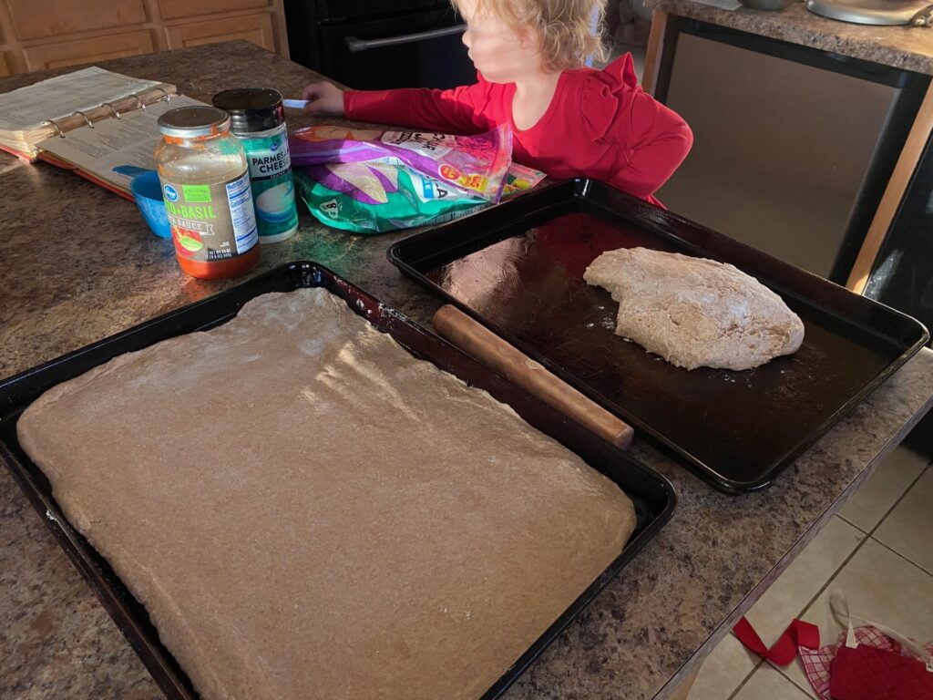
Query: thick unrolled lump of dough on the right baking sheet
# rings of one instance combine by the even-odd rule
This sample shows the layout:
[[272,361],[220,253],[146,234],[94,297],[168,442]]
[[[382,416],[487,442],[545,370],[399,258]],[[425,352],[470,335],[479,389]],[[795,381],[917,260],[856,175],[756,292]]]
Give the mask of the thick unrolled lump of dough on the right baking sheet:
[[617,334],[677,367],[748,370],[803,342],[800,316],[730,264],[620,248],[593,260],[583,279],[619,301]]

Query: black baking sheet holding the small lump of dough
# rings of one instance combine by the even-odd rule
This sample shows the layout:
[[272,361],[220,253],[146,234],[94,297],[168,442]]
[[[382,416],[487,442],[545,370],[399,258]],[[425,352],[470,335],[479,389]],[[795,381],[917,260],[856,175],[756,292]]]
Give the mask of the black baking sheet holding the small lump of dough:
[[[749,371],[688,371],[620,338],[619,304],[583,272],[635,246],[757,277],[801,316],[801,349]],[[591,180],[416,234],[389,259],[727,492],[771,482],[928,338],[910,316]]]

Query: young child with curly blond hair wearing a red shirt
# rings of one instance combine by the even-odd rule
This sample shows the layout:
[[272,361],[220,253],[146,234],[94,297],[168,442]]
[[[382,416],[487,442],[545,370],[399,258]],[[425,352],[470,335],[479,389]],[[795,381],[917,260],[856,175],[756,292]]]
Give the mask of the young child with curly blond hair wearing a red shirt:
[[476,84],[439,91],[341,91],[307,86],[313,115],[442,133],[480,133],[505,122],[512,158],[555,178],[585,175],[648,202],[693,142],[687,123],[642,91],[631,54],[585,67],[601,44],[592,20],[606,0],[453,0],[466,21]]

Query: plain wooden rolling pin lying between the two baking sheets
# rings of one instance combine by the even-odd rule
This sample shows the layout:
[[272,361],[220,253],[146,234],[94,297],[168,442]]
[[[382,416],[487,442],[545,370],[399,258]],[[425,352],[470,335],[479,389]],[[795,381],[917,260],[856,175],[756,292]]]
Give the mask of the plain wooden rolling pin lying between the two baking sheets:
[[599,437],[623,450],[632,444],[631,426],[459,309],[441,306],[431,323],[441,337]]

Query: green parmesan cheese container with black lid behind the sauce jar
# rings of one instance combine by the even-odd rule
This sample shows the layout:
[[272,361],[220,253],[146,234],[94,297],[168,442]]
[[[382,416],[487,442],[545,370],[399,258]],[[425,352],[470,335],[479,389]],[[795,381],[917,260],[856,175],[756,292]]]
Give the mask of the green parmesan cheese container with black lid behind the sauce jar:
[[298,209],[282,95],[270,88],[238,88],[217,92],[211,102],[230,114],[230,131],[246,150],[259,243],[291,238],[298,231]]

